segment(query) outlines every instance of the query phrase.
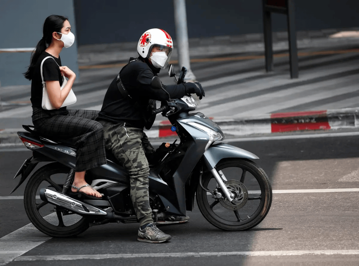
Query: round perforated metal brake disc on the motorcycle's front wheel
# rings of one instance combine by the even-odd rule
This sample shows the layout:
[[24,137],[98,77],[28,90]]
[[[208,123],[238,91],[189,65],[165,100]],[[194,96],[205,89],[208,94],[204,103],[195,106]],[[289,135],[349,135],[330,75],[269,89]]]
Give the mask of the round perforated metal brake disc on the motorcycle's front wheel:
[[248,190],[246,186],[238,180],[227,180],[224,184],[227,189],[234,194],[234,198],[232,201],[228,201],[226,198],[222,197],[219,199],[220,204],[229,210],[238,210],[242,208],[248,200]]

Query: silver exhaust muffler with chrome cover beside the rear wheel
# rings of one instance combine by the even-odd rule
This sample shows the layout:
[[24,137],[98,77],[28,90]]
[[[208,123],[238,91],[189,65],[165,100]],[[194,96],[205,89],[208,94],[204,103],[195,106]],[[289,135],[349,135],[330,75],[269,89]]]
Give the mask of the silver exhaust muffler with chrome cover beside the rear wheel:
[[107,212],[105,212],[103,209],[75,200],[60,192],[56,192],[50,189],[41,189],[40,198],[43,201],[47,201],[49,203],[64,207],[65,209],[71,210],[71,212],[74,213],[91,214],[91,215],[107,215]]

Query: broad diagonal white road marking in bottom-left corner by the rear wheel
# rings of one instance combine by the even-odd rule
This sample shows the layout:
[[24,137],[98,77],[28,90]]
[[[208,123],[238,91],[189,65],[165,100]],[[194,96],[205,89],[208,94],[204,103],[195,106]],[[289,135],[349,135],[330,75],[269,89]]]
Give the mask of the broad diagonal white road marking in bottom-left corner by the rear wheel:
[[49,239],[51,239],[51,237],[40,233],[31,223],[1,237],[0,265],[5,265],[6,263],[13,261],[14,258],[23,255]]

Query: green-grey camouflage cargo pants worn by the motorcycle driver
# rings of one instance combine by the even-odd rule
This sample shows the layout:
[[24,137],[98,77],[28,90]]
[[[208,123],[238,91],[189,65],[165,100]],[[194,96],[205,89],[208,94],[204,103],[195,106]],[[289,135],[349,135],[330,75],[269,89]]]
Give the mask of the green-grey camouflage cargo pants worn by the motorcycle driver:
[[146,154],[154,152],[143,129],[126,127],[126,123],[103,125],[106,149],[127,169],[130,195],[140,226],[153,222],[148,196],[149,166]]

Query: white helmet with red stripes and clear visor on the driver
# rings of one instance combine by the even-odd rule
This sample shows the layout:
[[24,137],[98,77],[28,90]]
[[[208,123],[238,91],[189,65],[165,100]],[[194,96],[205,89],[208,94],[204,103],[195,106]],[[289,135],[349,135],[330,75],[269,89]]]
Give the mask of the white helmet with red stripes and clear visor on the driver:
[[[154,47],[157,47],[157,51],[151,53]],[[148,58],[154,67],[162,69],[167,66],[172,49],[172,38],[163,29],[147,30],[137,44],[137,53],[143,58]]]

